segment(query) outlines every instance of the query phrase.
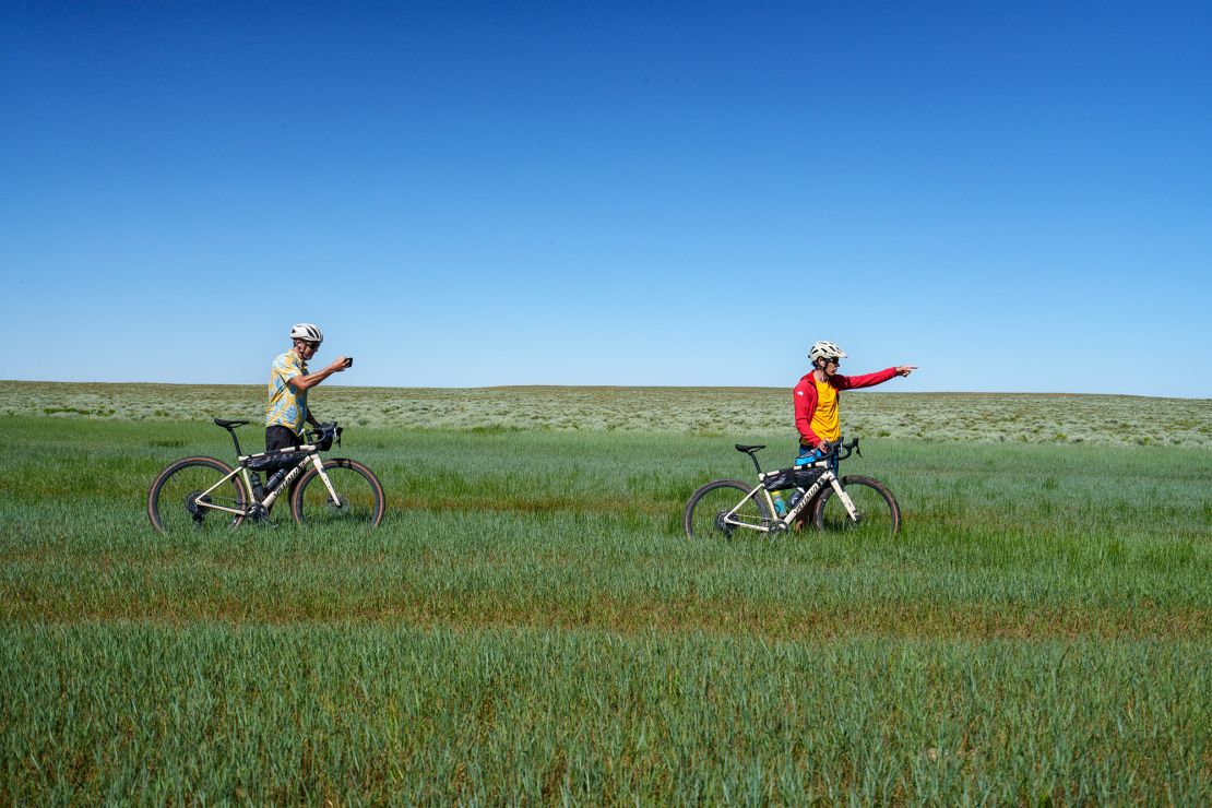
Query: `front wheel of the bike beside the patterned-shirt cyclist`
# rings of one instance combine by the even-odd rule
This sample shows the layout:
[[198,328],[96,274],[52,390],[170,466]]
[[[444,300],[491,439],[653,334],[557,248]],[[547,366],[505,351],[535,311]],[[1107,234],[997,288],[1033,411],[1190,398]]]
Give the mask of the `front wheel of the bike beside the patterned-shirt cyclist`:
[[333,458],[324,462],[324,477],[311,468],[299,479],[291,512],[299,525],[378,527],[387,509],[385,499],[373,471],[356,460]]

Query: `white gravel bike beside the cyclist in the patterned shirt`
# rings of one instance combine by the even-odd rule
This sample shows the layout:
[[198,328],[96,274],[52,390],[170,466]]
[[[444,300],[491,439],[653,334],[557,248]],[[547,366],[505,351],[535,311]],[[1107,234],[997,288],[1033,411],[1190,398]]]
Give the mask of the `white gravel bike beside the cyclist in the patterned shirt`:
[[[290,500],[299,525],[360,525],[378,527],[385,497],[375,472],[347,458],[320,459],[320,452],[341,446],[344,431],[336,422],[320,424],[301,446],[244,454],[235,435],[246,420],[216,418],[235,445],[236,466],[208,457],[177,460],[155,479],[148,492],[148,517],[161,533],[234,528],[246,520],[270,525],[270,509]],[[259,472],[274,472],[261,483]]]

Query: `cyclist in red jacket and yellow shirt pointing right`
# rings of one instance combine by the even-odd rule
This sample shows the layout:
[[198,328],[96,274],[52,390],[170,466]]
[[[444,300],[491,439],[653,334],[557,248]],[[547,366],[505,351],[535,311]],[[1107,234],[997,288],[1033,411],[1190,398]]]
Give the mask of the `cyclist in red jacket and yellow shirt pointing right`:
[[822,443],[841,437],[837,399],[842,390],[870,388],[917,369],[916,365],[898,365],[863,376],[842,376],[837,368],[846,359],[846,351],[825,340],[812,345],[808,359],[812,360],[812,372],[795,385],[795,428],[800,432],[797,465],[819,460],[823,457]]

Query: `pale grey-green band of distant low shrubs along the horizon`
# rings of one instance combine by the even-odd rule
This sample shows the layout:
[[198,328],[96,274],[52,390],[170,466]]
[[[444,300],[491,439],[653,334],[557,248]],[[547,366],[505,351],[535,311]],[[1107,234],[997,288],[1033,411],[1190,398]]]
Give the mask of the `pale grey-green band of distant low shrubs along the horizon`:
[[[261,385],[0,382],[0,414],[112,420],[256,419]],[[793,434],[772,388],[325,388],[314,408],[360,426],[698,435]],[[857,392],[853,435],[987,443],[1212,447],[1212,400],[1107,395]]]

